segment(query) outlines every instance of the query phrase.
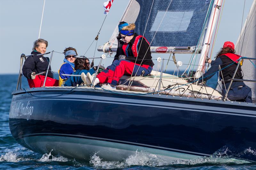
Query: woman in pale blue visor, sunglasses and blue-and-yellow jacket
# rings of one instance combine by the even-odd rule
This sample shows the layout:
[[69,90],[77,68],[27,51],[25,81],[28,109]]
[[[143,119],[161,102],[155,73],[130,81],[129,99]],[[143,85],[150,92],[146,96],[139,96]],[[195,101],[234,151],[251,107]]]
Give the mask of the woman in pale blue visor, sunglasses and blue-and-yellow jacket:
[[72,74],[75,71],[75,60],[77,56],[76,48],[68,47],[64,50],[65,58],[64,63],[60,66],[59,70],[59,86],[63,86],[63,81],[67,80],[70,76],[62,74]]

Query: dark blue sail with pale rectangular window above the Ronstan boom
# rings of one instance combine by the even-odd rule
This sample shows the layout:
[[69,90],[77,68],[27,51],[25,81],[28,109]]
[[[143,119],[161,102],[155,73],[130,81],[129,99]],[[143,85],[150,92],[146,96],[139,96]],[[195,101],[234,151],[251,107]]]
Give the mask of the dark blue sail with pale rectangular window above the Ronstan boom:
[[[149,42],[153,40],[151,47],[196,46],[211,2],[210,0],[155,0],[153,3],[153,0],[131,0],[120,21],[135,23],[135,32],[140,35],[143,35],[146,28],[144,36]],[[117,33],[116,27],[109,40],[110,44],[113,40],[113,44],[117,44],[115,39]]]

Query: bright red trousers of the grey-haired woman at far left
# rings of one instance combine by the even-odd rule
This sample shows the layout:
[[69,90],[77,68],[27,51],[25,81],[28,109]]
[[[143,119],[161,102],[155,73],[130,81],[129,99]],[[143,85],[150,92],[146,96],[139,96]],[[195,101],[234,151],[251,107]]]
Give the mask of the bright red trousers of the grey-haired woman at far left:
[[[32,87],[42,87],[44,85],[44,79],[45,76],[38,75],[36,78],[33,79],[28,79],[28,85],[30,88]],[[56,80],[54,78],[47,77],[45,86],[59,86],[59,80]]]

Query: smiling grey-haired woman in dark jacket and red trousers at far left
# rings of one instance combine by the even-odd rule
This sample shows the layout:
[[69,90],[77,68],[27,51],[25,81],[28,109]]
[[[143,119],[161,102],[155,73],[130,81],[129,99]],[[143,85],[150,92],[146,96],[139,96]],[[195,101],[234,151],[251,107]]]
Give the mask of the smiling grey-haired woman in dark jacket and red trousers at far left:
[[[33,51],[31,52],[33,56],[29,56],[22,67],[22,73],[28,79],[29,87],[42,87],[44,84],[46,73],[40,75],[37,74],[44,71],[46,72],[49,65],[49,58],[39,55],[44,54],[47,47],[48,42],[44,39],[34,41]],[[51,70],[51,66],[49,67],[49,70]],[[53,79],[52,72],[48,71],[45,86],[58,86],[58,84],[58,80]]]

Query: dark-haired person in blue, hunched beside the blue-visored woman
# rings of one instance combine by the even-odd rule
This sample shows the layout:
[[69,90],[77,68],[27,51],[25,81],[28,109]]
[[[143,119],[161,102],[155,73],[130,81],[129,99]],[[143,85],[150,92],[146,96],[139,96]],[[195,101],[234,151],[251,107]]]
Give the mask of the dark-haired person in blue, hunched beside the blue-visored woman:
[[[83,58],[76,58],[75,61],[75,72],[72,73],[73,75],[81,75],[81,74],[87,74],[88,72],[90,74],[93,74],[98,66],[95,66],[90,69],[90,61],[85,56],[80,56]],[[100,69],[104,70],[105,68],[103,66],[100,66]],[[64,86],[73,86],[80,85],[83,83],[83,80],[80,76],[70,76],[68,80],[64,83]]]

